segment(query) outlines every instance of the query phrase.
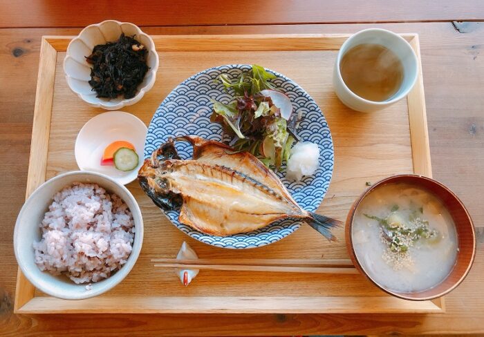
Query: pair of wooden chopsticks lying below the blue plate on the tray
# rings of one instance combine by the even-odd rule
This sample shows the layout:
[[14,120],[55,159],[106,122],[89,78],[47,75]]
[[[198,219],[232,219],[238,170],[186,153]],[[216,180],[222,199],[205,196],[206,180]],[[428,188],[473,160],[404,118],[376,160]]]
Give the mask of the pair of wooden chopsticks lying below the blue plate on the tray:
[[156,268],[270,271],[286,273],[357,273],[351,260],[152,259]]

